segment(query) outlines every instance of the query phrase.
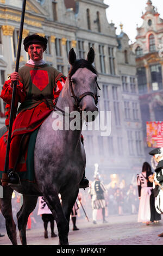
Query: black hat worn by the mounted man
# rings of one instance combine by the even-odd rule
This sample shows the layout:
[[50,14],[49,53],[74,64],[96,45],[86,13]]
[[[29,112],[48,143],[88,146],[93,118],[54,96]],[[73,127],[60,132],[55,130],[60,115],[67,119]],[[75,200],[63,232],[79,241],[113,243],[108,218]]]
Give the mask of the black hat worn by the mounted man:
[[46,47],[47,47],[47,42],[48,40],[46,38],[43,38],[43,36],[40,36],[40,35],[28,35],[24,41],[23,41],[23,44],[24,44],[24,50],[26,52],[28,52],[28,47],[29,45],[32,45],[32,44],[39,44],[39,45],[42,45],[43,46],[43,49],[44,51],[46,50]]

